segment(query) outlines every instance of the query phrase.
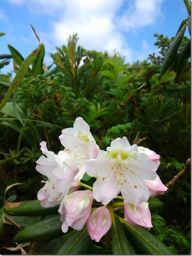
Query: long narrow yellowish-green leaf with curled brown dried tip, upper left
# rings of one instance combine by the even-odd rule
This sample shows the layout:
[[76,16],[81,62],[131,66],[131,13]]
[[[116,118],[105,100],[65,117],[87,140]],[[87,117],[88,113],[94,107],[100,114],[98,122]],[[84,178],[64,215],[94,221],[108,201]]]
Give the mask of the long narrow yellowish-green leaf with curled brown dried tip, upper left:
[[[32,27],[32,26],[31,26]],[[33,29],[33,27],[32,27]],[[33,32],[35,33],[36,38],[39,41],[39,37],[36,35],[35,30],[33,29]],[[12,83],[10,84],[9,89],[7,90],[6,95],[4,96],[1,104],[0,104],[0,110],[4,107],[4,105],[6,104],[6,102],[9,100],[10,96],[12,95],[13,91],[17,89],[17,87],[20,85],[23,77],[25,76],[29,65],[32,63],[32,61],[34,60],[35,56],[38,54],[40,50],[40,41],[39,41],[39,45],[38,47],[31,52],[31,54],[29,54],[29,56],[22,62],[18,72],[16,73],[16,76],[14,77]]]

